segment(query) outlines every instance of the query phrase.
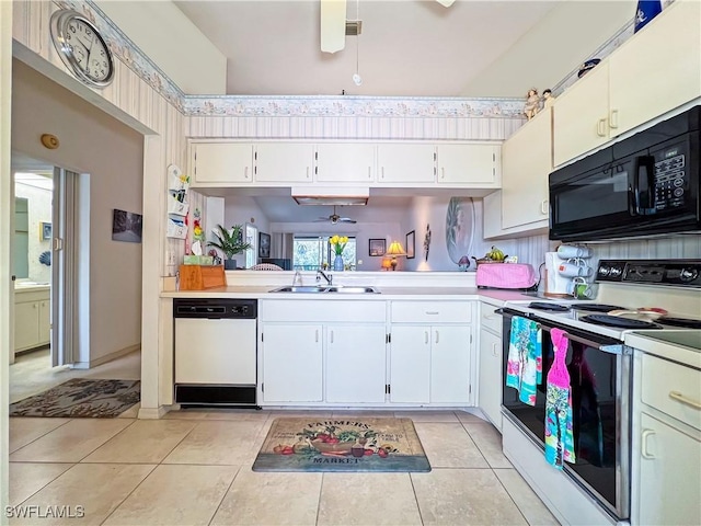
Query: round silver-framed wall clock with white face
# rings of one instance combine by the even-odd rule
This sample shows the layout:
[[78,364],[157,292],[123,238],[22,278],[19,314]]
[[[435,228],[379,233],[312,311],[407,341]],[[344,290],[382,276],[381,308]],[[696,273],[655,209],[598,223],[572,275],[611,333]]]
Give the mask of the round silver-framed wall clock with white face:
[[50,30],[61,60],[76,77],[95,88],[112,82],[112,52],[90,20],[76,11],[56,11],[51,15]]

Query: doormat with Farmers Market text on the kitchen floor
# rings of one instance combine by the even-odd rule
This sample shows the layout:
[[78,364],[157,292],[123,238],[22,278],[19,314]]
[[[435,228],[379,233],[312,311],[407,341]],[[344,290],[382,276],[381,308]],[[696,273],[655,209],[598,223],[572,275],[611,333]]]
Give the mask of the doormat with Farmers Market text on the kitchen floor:
[[253,471],[430,471],[411,419],[275,419]]

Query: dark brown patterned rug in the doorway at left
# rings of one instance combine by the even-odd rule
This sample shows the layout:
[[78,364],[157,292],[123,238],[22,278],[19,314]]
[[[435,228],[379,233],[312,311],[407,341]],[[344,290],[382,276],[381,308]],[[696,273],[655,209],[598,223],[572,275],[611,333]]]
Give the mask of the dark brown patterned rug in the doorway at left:
[[112,419],[141,398],[139,380],[73,378],[10,404],[10,416]]

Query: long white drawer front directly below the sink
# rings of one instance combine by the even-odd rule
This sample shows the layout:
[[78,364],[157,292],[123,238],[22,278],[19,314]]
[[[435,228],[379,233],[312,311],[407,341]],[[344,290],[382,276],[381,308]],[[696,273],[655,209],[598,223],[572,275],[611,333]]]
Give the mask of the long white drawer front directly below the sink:
[[377,300],[271,299],[261,300],[258,318],[261,321],[384,323],[386,312],[387,302]]

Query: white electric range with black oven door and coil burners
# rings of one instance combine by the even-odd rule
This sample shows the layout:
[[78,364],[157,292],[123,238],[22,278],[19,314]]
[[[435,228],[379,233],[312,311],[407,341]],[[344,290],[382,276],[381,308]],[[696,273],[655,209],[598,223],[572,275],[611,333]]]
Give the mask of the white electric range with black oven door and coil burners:
[[[629,524],[633,355],[636,350],[654,352],[665,359],[699,367],[701,260],[602,260],[596,285],[595,300],[525,295],[522,300],[507,301],[502,309],[504,371],[515,317],[538,323],[543,350],[542,384],[535,407],[521,402],[515,389],[503,387],[503,447],[560,521]],[[610,311],[625,312],[610,316]],[[664,316],[653,320],[651,311]],[[548,465],[542,453],[552,329],[565,331],[570,340],[566,362],[577,460],[565,462],[562,470]]]

